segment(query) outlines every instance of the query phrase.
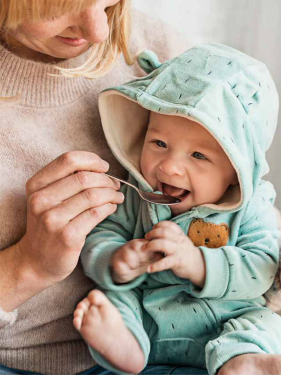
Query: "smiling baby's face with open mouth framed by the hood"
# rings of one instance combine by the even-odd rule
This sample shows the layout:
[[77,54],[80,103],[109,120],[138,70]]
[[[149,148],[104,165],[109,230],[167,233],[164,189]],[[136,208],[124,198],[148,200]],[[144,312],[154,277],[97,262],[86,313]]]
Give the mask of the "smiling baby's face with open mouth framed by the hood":
[[179,117],[150,113],[141,155],[141,172],[153,190],[178,197],[173,215],[216,203],[236,172],[216,139],[201,125]]

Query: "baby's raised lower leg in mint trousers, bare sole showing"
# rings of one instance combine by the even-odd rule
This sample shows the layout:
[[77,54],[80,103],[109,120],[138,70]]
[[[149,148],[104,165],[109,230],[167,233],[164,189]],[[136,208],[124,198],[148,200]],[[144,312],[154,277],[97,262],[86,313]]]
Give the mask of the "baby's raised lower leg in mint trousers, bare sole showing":
[[147,363],[150,344],[136,293],[106,291],[106,295],[92,290],[77,305],[73,325],[102,367],[118,373],[138,373]]

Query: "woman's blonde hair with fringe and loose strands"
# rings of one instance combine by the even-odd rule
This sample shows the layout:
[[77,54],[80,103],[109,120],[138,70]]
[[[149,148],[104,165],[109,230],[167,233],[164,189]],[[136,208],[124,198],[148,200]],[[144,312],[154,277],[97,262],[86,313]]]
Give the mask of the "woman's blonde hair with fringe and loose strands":
[[[41,4],[40,4],[41,3]],[[42,5],[42,3],[44,5]],[[9,31],[16,29],[26,19],[40,21],[61,16],[67,12],[82,12],[93,0],[0,0],[0,29]],[[131,24],[131,0],[120,0],[116,5],[106,9],[109,36],[107,40],[92,45],[92,51],[82,66],[73,69],[63,69],[60,73],[65,77],[83,76],[89,79],[104,76],[118,55],[123,53],[128,65],[134,63],[129,53],[129,34]]]

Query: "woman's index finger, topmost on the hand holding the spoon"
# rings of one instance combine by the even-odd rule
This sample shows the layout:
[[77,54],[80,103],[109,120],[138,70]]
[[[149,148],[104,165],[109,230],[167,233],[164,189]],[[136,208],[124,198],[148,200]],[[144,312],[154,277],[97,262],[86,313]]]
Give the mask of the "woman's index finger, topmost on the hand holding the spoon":
[[26,184],[27,196],[77,171],[106,172],[108,163],[87,151],[70,151],[39,170]]

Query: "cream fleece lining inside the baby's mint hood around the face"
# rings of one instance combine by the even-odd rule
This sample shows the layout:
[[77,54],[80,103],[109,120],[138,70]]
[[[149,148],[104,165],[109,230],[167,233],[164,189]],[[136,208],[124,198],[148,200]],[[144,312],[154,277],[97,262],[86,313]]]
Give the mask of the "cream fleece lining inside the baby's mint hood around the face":
[[[140,156],[150,111],[115,90],[100,94],[99,110],[103,131],[114,156],[134,177],[152,189],[140,172]],[[196,118],[185,118],[204,126]],[[205,126],[204,128],[209,131]],[[242,194],[240,176],[237,176],[239,185],[231,186],[217,204],[203,206],[214,210],[219,206],[222,211],[238,207],[242,203]]]

